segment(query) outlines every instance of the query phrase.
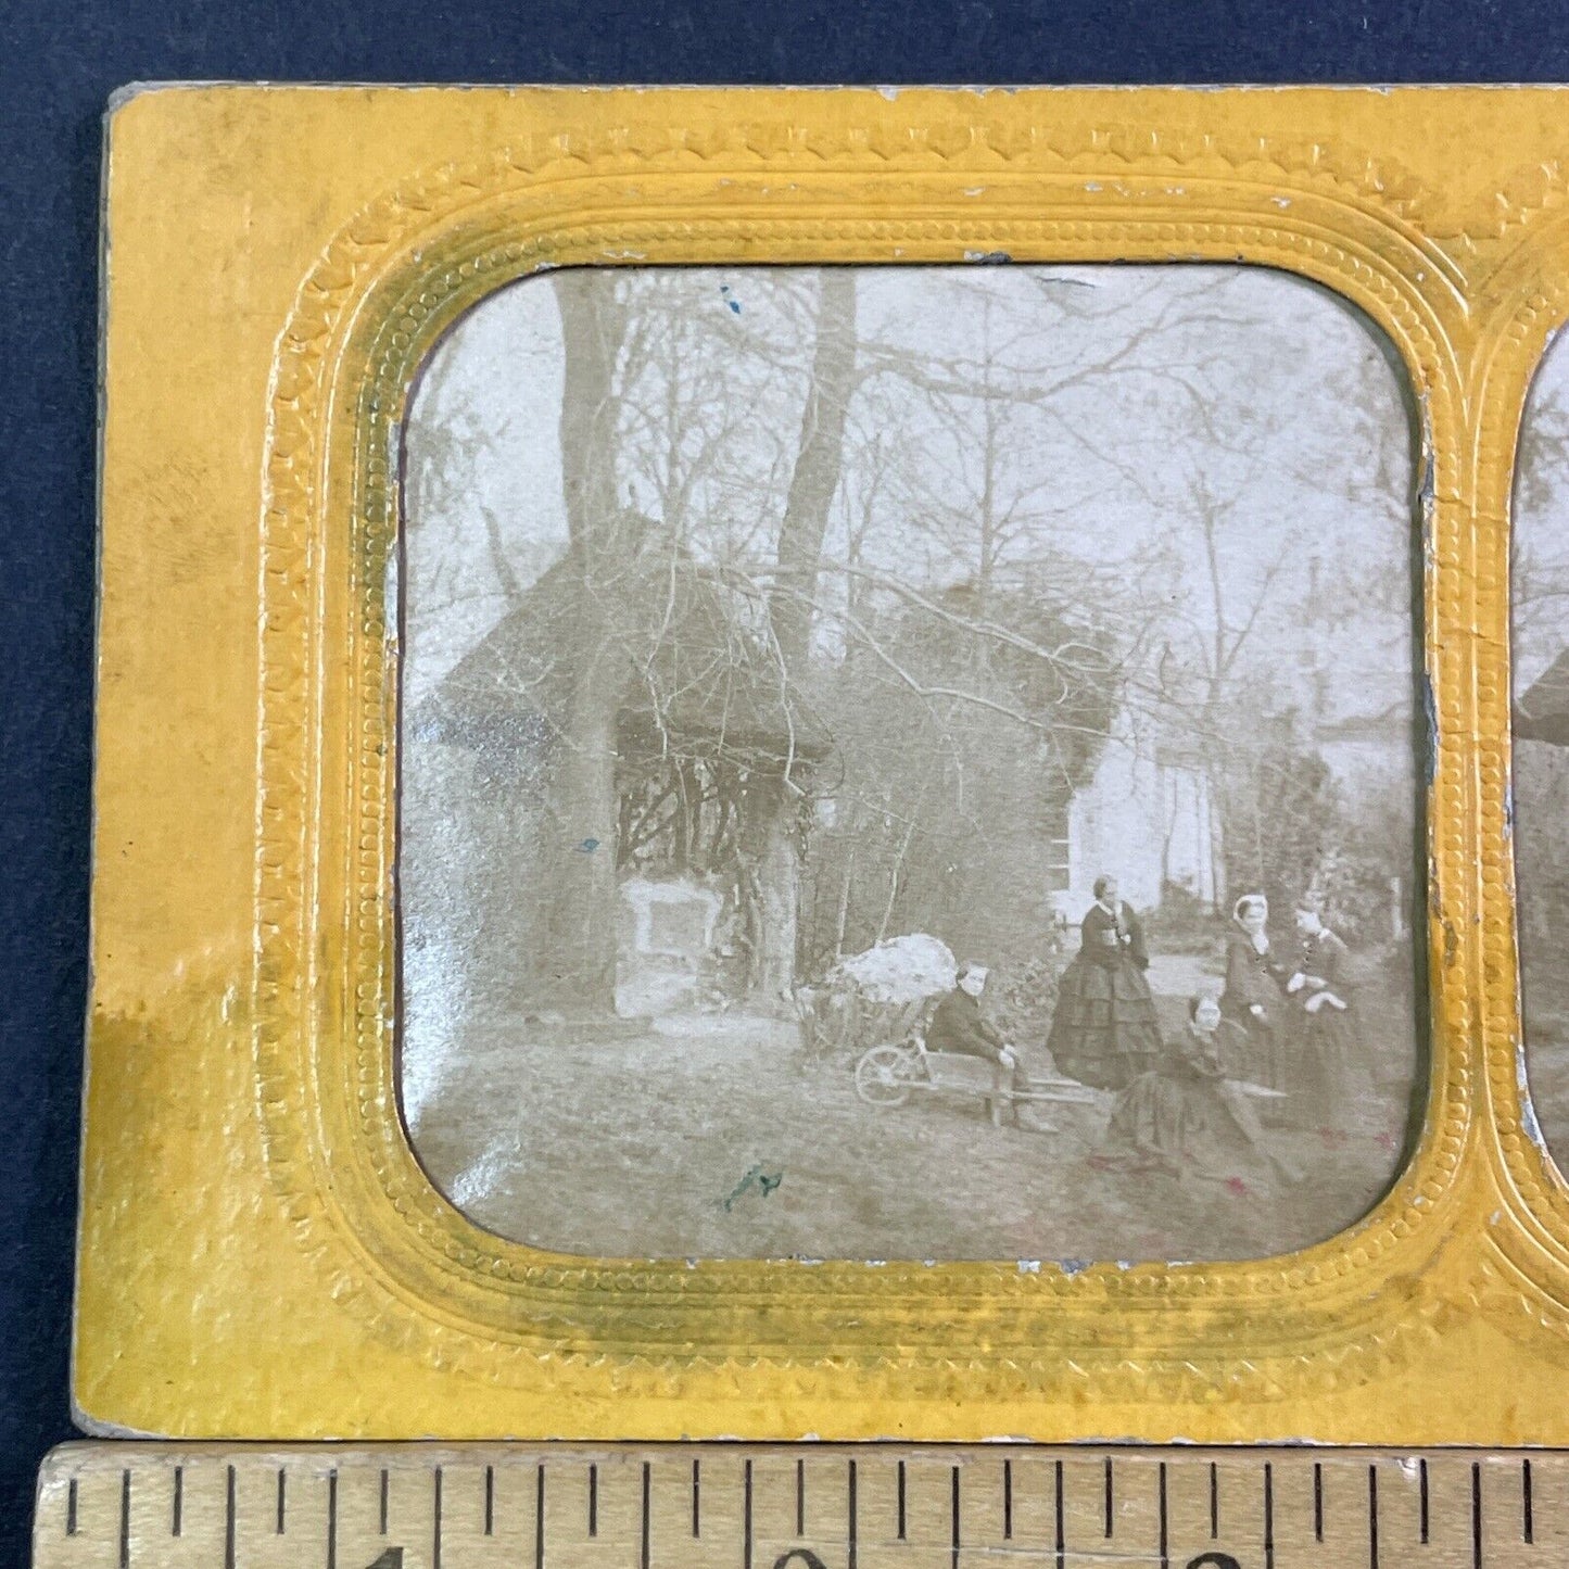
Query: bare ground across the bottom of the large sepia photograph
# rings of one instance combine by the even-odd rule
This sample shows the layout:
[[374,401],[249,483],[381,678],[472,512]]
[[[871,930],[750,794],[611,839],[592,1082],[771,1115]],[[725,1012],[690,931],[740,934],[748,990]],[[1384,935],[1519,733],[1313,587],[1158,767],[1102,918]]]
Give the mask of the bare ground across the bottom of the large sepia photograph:
[[[1247,1258],[1356,1221],[1393,1175],[1406,1086],[1345,1127],[1271,1131],[1298,1181],[1100,1169],[1111,1097],[995,1128],[981,1101],[863,1105],[792,1025],[687,1015],[576,1045],[469,1031],[422,1065],[414,1147],[486,1229],[562,1252],[719,1258]],[[1385,1075],[1389,1078],[1389,1075]]]

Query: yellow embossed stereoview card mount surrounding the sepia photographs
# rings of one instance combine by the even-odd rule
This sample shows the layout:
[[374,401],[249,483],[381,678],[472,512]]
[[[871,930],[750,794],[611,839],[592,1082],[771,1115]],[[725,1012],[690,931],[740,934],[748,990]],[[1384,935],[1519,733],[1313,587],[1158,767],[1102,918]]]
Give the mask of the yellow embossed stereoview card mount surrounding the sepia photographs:
[[[129,96],[107,173],[85,1420],[1569,1442],[1569,1188],[1527,1131],[1505,817],[1516,431],[1569,315],[1563,105]],[[1351,1232],[1255,1263],[689,1265],[499,1241],[430,1186],[397,1112],[388,563],[417,366],[543,267],[996,253],[1285,268],[1404,361],[1436,728],[1409,1167]]]

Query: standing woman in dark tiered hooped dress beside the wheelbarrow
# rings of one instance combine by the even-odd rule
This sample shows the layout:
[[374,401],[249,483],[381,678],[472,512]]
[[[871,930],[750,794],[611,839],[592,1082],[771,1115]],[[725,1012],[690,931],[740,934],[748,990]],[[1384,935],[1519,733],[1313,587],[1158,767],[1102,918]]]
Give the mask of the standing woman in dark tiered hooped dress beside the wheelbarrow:
[[1114,877],[1095,879],[1079,951],[1058,981],[1047,1048],[1062,1073],[1095,1089],[1125,1089],[1161,1059],[1161,1029],[1144,971],[1139,918]]

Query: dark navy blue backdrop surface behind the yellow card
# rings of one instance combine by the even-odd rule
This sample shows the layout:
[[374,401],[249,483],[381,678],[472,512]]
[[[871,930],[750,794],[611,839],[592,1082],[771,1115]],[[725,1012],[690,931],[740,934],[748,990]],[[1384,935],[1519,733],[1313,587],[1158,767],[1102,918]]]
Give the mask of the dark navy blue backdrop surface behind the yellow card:
[[71,1436],[99,115],[133,80],[1569,80],[1569,6],[0,0],[0,1563]]

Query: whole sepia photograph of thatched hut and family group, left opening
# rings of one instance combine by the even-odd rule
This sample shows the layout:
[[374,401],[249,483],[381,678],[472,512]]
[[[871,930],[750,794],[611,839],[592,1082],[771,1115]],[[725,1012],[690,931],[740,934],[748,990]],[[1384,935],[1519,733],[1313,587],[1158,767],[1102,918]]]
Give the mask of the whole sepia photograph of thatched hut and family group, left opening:
[[[573,268],[474,308],[400,455],[431,1181],[617,1258],[1354,1224],[1426,1081],[1414,430],[1379,331],[1265,268]],[[1569,802],[1569,551],[1522,552],[1523,857]],[[1569,1114],[1569,1004],[1527,999]]]

